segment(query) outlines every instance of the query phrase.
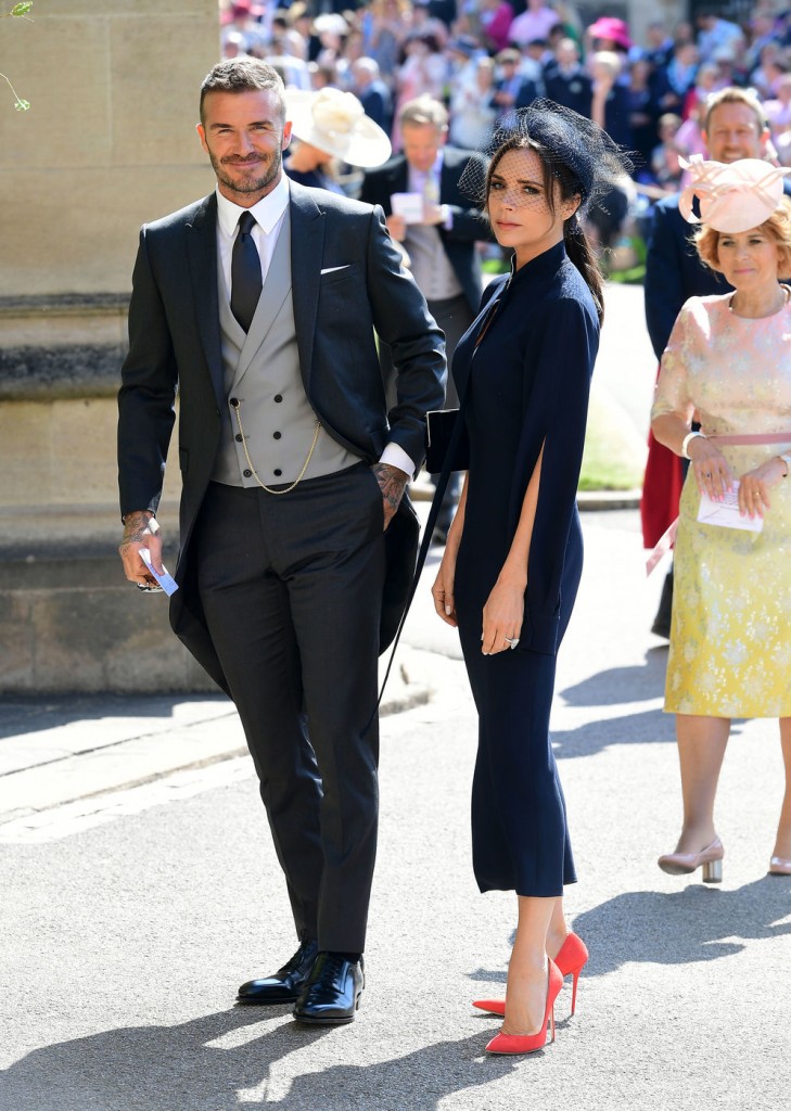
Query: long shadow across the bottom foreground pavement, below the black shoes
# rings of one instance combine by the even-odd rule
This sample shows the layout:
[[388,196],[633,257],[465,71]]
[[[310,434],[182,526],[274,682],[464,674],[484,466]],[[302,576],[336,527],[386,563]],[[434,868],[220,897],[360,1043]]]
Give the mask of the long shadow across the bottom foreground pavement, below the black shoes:
[[[269,1011],[270,1009],[268,1009]],[[434,1111],[454,1092],[508,1074],[520,1059],[483,1059],[493,1031],[420,1047],[372,1064],[279,1064],[329,1030],[271,1013],[257,1033],[249,1012],[222,1011],[177,1027],[130,1027],[36,1050],[0,1072],[0,1107],[13,1111]],[[277,1021],[277,1019],[276,1019]],[[244,1029],[248,1028],[248,1029]],[[238,1034],[236,1032],[239,1032]],[[234,1038],[244,1044],[232,1044]],[[211,1044],[226,1039],[230,1044]],[[208,1044],[207,1044],[208,1043]],[[542,1053],[535,1053],[541,1059]],[[296,1074],[294,1074],[296,1073]]]

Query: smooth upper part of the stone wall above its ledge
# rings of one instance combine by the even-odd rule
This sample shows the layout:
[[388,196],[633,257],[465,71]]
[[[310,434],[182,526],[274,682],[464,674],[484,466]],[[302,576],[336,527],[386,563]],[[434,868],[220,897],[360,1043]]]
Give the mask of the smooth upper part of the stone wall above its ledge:
[[212,186],[194,124],[217,0],[46,0],[0,43],[32,106],[0,93],[0,297],[128,290],[140,224]]

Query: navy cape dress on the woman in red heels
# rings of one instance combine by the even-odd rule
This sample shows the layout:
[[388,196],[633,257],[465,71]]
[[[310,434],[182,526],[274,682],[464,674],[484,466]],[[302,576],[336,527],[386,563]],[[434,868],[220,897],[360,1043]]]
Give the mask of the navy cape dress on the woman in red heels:
[[[590,290],[559,243],[489,286],[453,359],[470,438],[454,595],[479,714],[472,848],[481,891],[551,898],[575,880],[549,717],[582,570],[577,486],[598,347]],[[485,657],[482,610],[542,446],[520,642]]]

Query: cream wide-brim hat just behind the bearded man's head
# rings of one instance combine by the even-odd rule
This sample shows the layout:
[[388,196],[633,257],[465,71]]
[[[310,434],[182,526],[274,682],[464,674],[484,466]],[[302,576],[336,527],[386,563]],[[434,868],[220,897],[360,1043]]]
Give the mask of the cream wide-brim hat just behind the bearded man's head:
[[297,139],[318,147],[349,166],[370,168],[390,158],[390,139],[378,123],[366,116],[351,92],[320,89],[306,92],[286,90],[286,119]]

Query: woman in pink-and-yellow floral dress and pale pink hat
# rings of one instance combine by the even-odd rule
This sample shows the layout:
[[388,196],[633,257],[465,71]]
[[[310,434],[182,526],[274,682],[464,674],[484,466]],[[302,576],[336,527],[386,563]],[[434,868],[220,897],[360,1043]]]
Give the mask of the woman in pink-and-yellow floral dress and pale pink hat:
[[[714,795],[732,718],[780,719],[785,797],[770,873],[791,874],[791,289],[779,280],[791,273],[791,204],[788,171],[757,159],[690,169],[698,252],[735,292],[684,304],[651,412],[654,437],[691,461],[664,701],[677,714],[683,827],[659,867],[702,867],[718,882]],[[681,208],[695,222],[691,196]]]

